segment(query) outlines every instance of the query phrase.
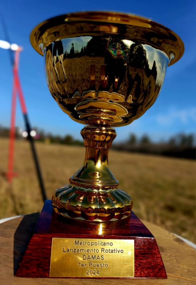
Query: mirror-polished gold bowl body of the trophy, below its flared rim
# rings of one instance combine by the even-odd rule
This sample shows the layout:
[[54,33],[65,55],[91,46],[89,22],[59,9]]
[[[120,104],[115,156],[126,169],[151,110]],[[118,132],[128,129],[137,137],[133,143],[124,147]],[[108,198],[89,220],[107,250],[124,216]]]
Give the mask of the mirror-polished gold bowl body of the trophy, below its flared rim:
[[103,36],[53,42],[45,60],[60,108],[76,122],[108,126],[130,124],[150,108],[169,63],[149,45]]

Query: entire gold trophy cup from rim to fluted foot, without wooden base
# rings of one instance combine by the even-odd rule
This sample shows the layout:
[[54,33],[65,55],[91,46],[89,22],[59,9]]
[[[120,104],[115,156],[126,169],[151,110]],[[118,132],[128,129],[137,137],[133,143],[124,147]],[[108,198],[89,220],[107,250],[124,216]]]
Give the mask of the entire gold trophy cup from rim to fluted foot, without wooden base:
[[125,225],[132,199],[108,168],[112,127],[130,124],[153,105],[167,66],[184,52],[183,42],[145,18],[81,12],[41,23],[31,43],[44,56],[48,88],[59,107],[87,125],[81,130],[84,164],[54,193],[55,212],[82,227]]

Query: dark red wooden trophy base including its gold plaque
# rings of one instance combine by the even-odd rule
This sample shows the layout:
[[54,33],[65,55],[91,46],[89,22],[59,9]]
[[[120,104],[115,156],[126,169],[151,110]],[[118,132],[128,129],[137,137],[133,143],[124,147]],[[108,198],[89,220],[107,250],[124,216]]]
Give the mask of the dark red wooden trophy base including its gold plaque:
[[[71,242],[73,245],[74,241],[76,245],[76,240],[78,244],[79,240],[83,243],[84,241],[90,240],[93,241],[93,243],[97,241],[96,244],[100,243],[101,245],[107,241],[116,241],[118,245],[121,245],[121,242],[122,244],[129,242],[126,243],[125,247],[121,246],[121,251],[125,250],[128,244],[130,246],[133,244],[133,247],[132,249],[130,247],[127,251],[129,256],[126,256],[126,263],[123,262],[123,258],[125,257],[123,256],[124,254],[121,254],[120,257],[120,253],[104,253],[105,260],[104,263],[102,262],[101,264],[103,266],[103,264],[107,264],[108,260],[110,260],[111,263],[108,262],[108,268],[88,270],[85,266],[87,267],[89,264],[98,264],[99,261],[97,261],[97,263],[94,263],[94,261],[88,262],[87,260],[79,262],[82,259],[79,254],[71,253],[71,258],[70,255],[68,255],[68,262],[66,261],[64,263],[65,266],[63,266],[63,258],[67,255],[67,253],[65,253],[66,247],[63,247],[62,249],[60,248],[60,251],[58,247],[55,249],[54,240],[62,242],[63,245],[67,242],[69,246],[71,245]],[[130,243],[131,241],[133,243]],[[88,242],[86,242],[86,244],[87,243]],[[98,251],[98,247],[94,250]],[[99,250],[104,252],[106,251],[105,248],[101,247]],[[116,248],[116,250],[118,249]],[[132,259],[130,257],[131,250],[133,253]],[[55,267],[53,266],[56,262],[54,255],[57,254],[57,251],[59,251],[59,255],[61,256],[59,256],[59,265]],[[87,247],[86,251],[90,252]],[[76,252],[79,252],[79,249]],[[103,256],[104,258],[104,254],[93,254],[93,256]],[[91,255],[81,254],[81,256],[87,257]],[[54,261],[53,264],[52,260]],[[120,260],[122,261],[121,263]],[[97,266],[101,267],[100,265]],[[117,266],[117,270],[112,270],[114,266]],[[59,272],[59,267],[63,267],[62,272]],[[130,273],[129,268],[133,269]],[[125,271],[123,271],[124,269]],[[54,272],[55,270],[56,272]],[[92,273],[92,275],[89,275],[88,272]],[[93,272],[95,272],[95,275]],[[46,200],[44,204],[43,210],[35,227],[34,234],[31,237],[15,276],[30,278],[167,278],[155,238],[133,212],[131,212],[129,223],[120,228],[82,229],[66,224],[63,220],[60,220],[59,215],[54,212],[50,200]]]

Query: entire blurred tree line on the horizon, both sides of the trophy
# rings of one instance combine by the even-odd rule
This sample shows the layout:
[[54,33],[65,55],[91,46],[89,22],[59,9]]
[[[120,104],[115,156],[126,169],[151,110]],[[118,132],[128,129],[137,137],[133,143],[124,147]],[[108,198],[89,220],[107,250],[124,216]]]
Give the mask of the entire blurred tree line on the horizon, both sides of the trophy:
[[[74,139],[71,135],[59,136],[51,133],[45,133],[43,130],[39,130],[36,127],[35,139],[46,143],[56,144],[68,144],[68,145],[83,145],[83,141]],[[0,137],[9,137],[10,129],[0,126]],[[20,129],[16,127],[15,137],[22,138]],[[138,138],[134,133],[131,133],[128,140],[120,143],[113,143],[113,149],[128,151],[128,152],[140,152],[149,153],[155,155],[166,155],[179,158],[196,158],[195,149],[195,135],[194,134],[176,134],[167,141],[153,142],[149,136],[144,134],[141,138]]]

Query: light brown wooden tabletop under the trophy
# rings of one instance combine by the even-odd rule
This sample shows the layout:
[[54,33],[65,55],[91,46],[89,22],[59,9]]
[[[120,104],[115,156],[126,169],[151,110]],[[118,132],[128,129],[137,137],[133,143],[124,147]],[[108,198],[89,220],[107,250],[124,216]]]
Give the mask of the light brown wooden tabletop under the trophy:
[[46,284],[196,284],[196,251],[173,234],[144,222],[155,236],[167,272],[167,279],[62,279],[14,277],[18,262],[33,233],[39,213],[0,224],[0,281],[3,285]]

